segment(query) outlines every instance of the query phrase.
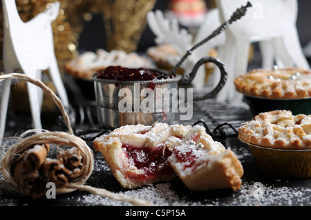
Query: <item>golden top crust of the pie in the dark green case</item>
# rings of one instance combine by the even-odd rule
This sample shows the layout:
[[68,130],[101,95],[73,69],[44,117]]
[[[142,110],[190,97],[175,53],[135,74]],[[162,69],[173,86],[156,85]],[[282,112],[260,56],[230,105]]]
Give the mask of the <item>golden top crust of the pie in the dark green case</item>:
[[236,90],[246,95],[272,99],[311,97],[311,71],[302,68],[257,69],[234,80]]

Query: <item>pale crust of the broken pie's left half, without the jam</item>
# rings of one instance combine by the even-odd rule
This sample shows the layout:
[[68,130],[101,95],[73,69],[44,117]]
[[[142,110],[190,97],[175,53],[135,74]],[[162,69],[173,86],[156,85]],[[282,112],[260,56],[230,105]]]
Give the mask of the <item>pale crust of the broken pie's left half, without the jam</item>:
[[[104,134],[95,139],[93,145],[95,150],[102,152],[115,179],[123,188],[137,188],[157,181],[168,181],[176,177],[176,175],[169,173],[148,180],[133,178],[144,174],[144,172],[133,166],[131,159],[124,154],[124,149],[122,149],[123,144],[130,144],[131,146],[146,146],[146,148],[156,150],[160,143],[165,142],[171,136],[170,131],[166,128],[167,125],[164,123],[156,123],[152,128],[140,124],[122,126],[113,130],[110,134]],[[144,132],[146,133],[143,134]],[[173,145],[173,141],[171,141],[171,144]]]

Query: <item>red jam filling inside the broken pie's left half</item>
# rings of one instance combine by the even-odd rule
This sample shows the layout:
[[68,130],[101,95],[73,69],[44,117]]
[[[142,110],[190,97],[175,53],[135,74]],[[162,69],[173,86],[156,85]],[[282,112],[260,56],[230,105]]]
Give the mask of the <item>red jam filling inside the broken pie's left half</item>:
[[149,147],[137,147],[129,144],[123,144],[122,148],[129,159],[129,163],[144,173],[140,174],[138,179],[149,179],[162,174],[173,172],[167,158],[171,156],[171,151],[164,146],[151,149]]

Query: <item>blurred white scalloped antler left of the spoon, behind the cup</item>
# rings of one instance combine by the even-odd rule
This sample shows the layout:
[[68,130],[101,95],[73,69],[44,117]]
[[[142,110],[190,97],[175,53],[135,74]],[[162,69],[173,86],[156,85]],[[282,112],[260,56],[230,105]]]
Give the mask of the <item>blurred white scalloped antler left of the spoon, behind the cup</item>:
[[147,21],[149,27],[156,34],[156,43],[168,43],[182,56],[192,47],[192,35],[185,29],[180,29],[177,19],[165,19],[160,10],[148,12]]

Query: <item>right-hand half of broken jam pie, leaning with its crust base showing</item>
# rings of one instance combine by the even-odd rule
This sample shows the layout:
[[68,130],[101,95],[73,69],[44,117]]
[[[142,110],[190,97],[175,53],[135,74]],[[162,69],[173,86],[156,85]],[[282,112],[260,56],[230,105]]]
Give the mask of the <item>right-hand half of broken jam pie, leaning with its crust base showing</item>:
[[169,164],[192,191],[238,190],[244,172],[232,150],[210,154],[202,143],[194,141],[174,148]]

